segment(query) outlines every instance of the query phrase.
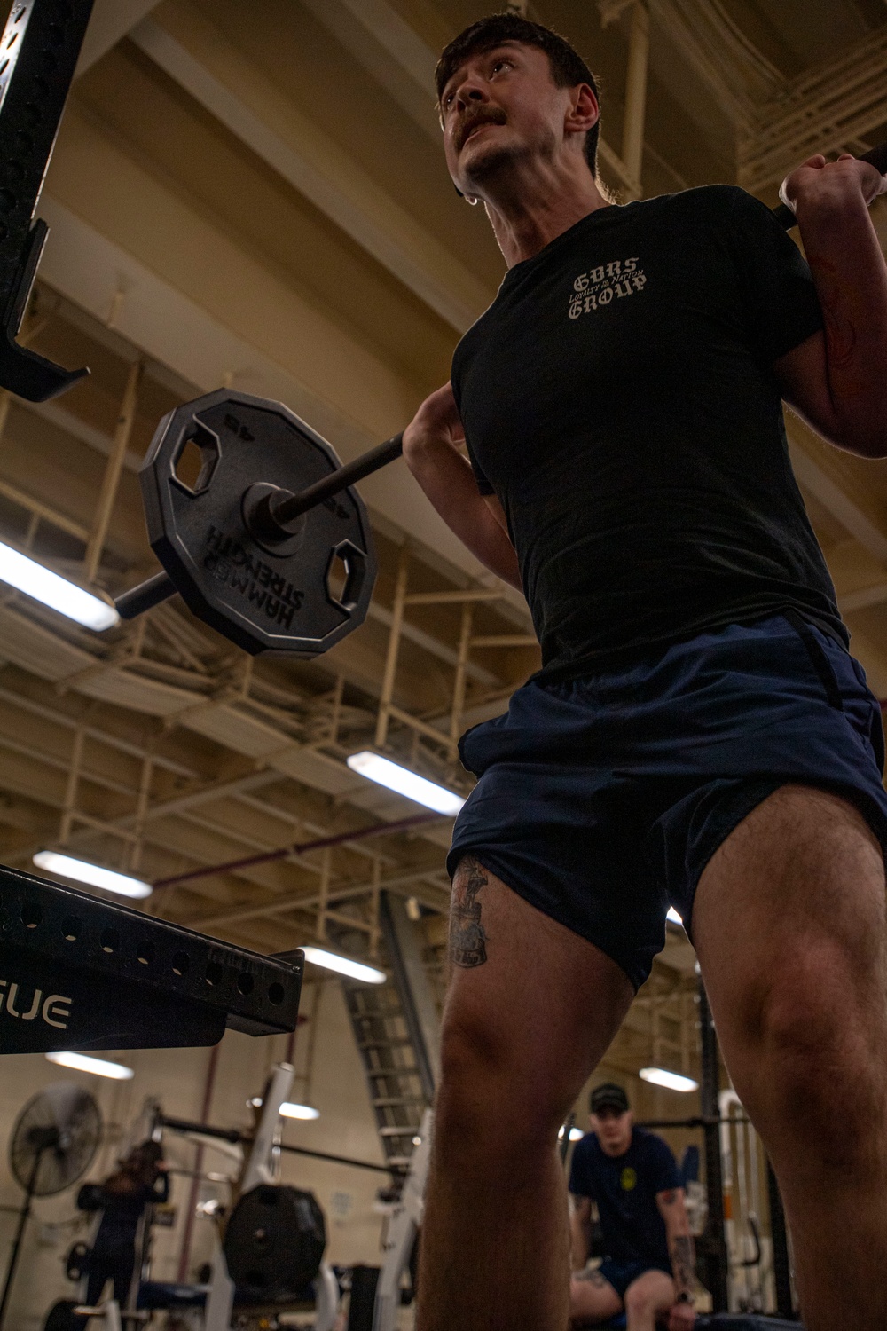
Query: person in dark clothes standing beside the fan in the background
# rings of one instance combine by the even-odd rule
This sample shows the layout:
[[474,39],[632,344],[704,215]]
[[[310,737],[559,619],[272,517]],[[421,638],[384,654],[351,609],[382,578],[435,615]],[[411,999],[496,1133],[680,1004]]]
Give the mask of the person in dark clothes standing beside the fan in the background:
[[94,1307],[110,1280],[126,1307],[136,1268],[136,1236],[145,1207],[169,1198],[169,1175],[157,1142],[142,1142],[101,1185],[101,1221],[89,1254],[86,1303]]

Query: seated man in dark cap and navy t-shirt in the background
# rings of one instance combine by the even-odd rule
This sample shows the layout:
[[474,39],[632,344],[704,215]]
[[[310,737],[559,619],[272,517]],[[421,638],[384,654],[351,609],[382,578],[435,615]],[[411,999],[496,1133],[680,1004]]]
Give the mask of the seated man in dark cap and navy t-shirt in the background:
[[[569,1175],[573,1327],[625,1311],[628,1331],[669,1331],[694,1322],[694,1259],[674,1155],[654,1133],[634,1127],[621,1086],[605,1082],[590,1098],[592,1131],[576,1143]],[[592,1203],[605,1258],[585,1270]]]

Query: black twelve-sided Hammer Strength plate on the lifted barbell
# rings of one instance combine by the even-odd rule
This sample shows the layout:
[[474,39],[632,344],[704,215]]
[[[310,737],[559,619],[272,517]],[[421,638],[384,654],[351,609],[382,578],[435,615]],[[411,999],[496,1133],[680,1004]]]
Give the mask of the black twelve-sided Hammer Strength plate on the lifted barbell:
[[[182,476],[194,446],[199,475]],[[198,619],[253,655],[307,658],[363,623],[376,562],[355,490],[306,512],[279,552],[250,536],[241,511],[251,484],[301,491],[338,467],[320,435],[267,398],[219,390],[161,421],[140,474],[148,535]],[[336,556],[348,567],[344,590],[330,578]]]

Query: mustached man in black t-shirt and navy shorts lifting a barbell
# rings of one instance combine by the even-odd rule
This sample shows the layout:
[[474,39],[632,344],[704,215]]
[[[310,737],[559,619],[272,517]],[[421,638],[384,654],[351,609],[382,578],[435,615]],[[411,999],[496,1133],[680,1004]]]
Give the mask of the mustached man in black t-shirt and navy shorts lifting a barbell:
[[[483,201],[509,272],[453,362],[461,421],[448,386],[432,394],[404,457],[488,568],[515,587],[524,574],[545,666],[567,676],[531,681],[508,719],[463,741],[483,775],[451,857],[418,1331],[567,1324],[557,1130],[661,946],[669,896],[779,1177],[809,1331],[883,1331],[878,707],[793,495],[779,398],[839,447],[887,455],[887,265],[868,217],[887,180],[842,156],[783,182],[819,325],[807,270],[742,192],[609,205],[593,172],[593,79],[565,47],[497,16],[439,67],[449,174]],[[718,256],[726,280],[713,289]],[[769,298],[761,265],[775,277]],[[617,280],[606,299],[605,278]],[[598,315],[614,355],[604,373],[581,354]],[[461,453],[463,422],[493,494]],[[577,582],[600,584],[612,626],[600,600],[582,615]],[[676,803],[640,819],[666,788]],[[483,957],[463,946],[469,929],[484,932]]]

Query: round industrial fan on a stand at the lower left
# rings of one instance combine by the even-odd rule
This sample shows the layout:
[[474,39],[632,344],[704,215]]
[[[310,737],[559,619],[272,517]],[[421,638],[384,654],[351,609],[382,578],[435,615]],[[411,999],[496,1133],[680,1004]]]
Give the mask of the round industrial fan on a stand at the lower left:
[[19,1114],[9,1138],[9,1169],[24,1187],[25,1199],[0,1296],[0,1331],[32,1199],[70,1187],[92,1165],[100,1138],[98,1105],[74,1082],[53,1082]]

